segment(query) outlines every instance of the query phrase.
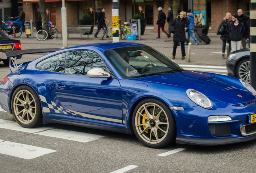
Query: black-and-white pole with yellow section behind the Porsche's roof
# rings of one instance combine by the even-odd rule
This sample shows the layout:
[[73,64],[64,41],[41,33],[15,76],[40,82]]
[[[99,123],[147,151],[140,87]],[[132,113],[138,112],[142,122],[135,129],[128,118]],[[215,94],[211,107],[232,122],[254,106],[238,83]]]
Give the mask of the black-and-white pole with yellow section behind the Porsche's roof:
[[118,19],[119,19],[119,12],[118,12],[118,0],[113,0],[113,7],[112,7],[112,21],[113,21],[113,42],[119,42],[119,33],[118,33]]

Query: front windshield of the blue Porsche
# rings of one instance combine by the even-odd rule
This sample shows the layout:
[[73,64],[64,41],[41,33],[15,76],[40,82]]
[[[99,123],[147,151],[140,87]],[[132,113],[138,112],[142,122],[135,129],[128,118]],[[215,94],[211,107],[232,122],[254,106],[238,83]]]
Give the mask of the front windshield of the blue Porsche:
[[179,72],[183,69],[149,46],[130,46],[104,51],[122,78]]

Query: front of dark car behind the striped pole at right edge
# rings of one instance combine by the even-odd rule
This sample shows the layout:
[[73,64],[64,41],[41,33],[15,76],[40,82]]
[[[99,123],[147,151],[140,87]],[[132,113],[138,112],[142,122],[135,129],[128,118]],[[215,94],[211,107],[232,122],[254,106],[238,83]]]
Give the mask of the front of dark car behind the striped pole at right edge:
[[250,83],[250,48],[233,52],[227,58],[227,75]]

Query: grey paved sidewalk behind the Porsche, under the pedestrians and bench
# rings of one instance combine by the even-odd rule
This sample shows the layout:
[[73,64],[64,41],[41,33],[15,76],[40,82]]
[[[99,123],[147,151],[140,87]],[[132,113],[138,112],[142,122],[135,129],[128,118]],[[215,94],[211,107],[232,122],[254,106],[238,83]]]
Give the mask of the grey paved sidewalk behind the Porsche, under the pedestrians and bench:
[[[80,34],[69,34],[68,36],[68,47],[82,45],[82,44],[90,44],[90,43],[98,43],[98,42],[112,42],[111,38],[103,38],[101,40],[103,32],[99,32],[98,37],[94,38],[94,35],[89,35],[89,39],[87,39],[87,35],[82,35],[83,40],[81,40]],[[173,34],[172,34],[173,35]],[[187,34],[186,34],[187,35]],[[146,44],[151,46],[167,56],[168,58],[172,57],[173,50],[173,39],[172,37],[167,38],[167,36],[161,32],[161,38],[156,39],[156,32],[146,32],[141,36],[141,40],[120,40],[120,42],[136,42],[141,44]],[[185,46],[186,56],[185,60],[181,60],[181,48],[177,47],[176,50],[176,58],[175,62],[178,64],[198,64],[198,65],[218,65],[225,66],[227,61],[227,55],[225,55],[225,59],[221,58],[222,54],[222,40],[220,36],[217,36],[216,33],[209,33],[209,38],[211,39],[210,44],[205,44],[204,42],[200,42],[200,44],[195,45],[194,40],[191,38],[190,42],[192,42],[191,46],[191,54],[190,61],[187,62],[188,58],[188,46]],[[13,38],[10,36],[10,38]],[[27,38],[26,34],[23,33],[20,37],[14,38],[17,40],[21,40],[22,49],[33,49],[33,48],[58,48],[63,46],[61,36],[59,34],[59,38],[39,41],[36,38],[36,33],[34,32],[33,38],[29,36]],[[248,47],[248,45],[247,45]]]

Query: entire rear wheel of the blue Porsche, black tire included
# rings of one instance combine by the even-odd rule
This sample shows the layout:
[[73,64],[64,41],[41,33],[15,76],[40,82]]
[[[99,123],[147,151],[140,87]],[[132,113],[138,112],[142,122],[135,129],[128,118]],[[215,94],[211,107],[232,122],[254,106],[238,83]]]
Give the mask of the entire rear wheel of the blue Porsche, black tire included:
[[22,127],[33,128],[43,124],[41,103],[31,87],[18,87],[12,95],[11,107],[14,119]]

